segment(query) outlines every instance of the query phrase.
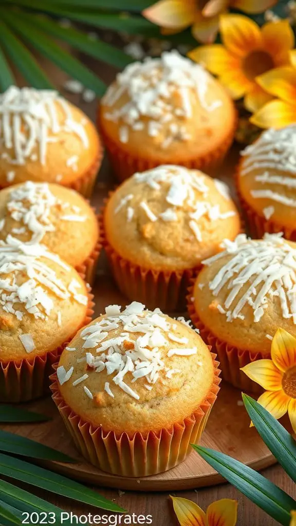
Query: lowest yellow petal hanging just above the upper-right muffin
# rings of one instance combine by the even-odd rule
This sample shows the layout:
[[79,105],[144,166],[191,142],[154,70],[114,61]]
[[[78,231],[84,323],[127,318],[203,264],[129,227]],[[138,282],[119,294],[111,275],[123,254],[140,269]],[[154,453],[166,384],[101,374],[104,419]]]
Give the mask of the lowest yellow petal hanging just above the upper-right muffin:
[[255,113],[250,122],[259,128],[284,128],[296,122],[296,103],[289,104],[284,100],[271,100]]

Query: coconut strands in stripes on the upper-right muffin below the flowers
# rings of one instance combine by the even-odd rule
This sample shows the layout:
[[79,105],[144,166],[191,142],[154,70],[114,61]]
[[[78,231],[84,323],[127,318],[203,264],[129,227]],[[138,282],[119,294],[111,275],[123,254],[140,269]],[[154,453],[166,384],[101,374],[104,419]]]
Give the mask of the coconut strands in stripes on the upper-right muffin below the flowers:
[[[260,170],[255,175],[255,181],[262,189],[252,189],[254,199],[270,199],[282,205],[296,208],[296,199],[286,195],[287,190],[296,189],[296,125],[279,130],[264,131],[254,144],[242,151],[243,161],[241,176],[249,176],[254,170]],[[285,175],[281,175],[280,171]],[[276,187],[276,188],[275,188]],[[279,187],[282,191],[279,191]],[[265,208],[266,219],[271,217],[271,207]],[[269,217],[268,217],[269,216]]]

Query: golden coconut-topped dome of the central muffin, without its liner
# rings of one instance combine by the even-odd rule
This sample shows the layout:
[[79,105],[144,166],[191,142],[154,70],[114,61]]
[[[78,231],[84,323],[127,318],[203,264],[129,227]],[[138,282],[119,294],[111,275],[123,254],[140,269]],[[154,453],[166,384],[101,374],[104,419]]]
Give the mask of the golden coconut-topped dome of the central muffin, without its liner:
[[240,231],[228,187],[180,166],[159,166],[124,181],[108,200],[104,221],[120,256],[160,270],[194,268]]

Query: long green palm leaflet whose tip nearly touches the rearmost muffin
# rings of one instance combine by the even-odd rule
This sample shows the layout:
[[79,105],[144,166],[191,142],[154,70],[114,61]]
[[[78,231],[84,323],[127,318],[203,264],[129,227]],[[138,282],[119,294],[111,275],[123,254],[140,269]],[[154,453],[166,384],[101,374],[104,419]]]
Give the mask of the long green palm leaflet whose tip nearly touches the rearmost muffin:
[[17,33],[21,34],[25,41],[32,44],[46,58],[52,60],[58,67],[63,69],[71,77],[80,80],[87,88],[92,89],[97,95],[103,95],[105,84],[90,69],[85,67],[79,60],[72,57],[64,49],[58,46],[44,33],[34,27],[34,22],[27,23],[22,16],[12,13],[8,9],[1,9],[1,15]]

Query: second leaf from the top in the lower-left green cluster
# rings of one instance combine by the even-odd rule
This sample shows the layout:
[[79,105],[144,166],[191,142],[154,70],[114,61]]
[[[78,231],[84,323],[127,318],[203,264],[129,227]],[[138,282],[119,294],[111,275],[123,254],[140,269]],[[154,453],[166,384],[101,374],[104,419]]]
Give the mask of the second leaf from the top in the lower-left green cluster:
[[0,430],[0,451],[43,460],[75,462],[61,451],[43,446],[39,442]]

